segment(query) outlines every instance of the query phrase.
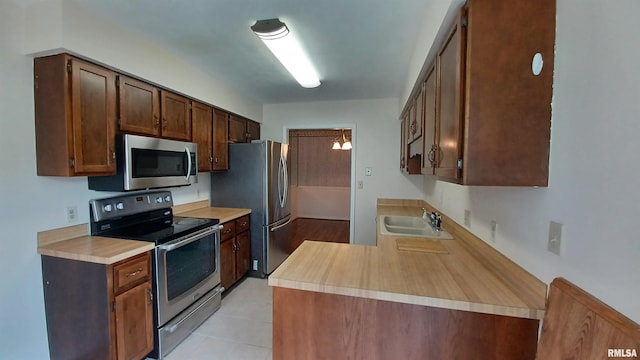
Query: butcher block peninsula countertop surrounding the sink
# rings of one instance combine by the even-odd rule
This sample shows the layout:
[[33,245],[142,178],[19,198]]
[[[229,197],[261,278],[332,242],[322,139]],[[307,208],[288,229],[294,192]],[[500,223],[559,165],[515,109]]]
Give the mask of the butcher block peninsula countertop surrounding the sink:
[[[378,200],[378,215],[420,216],[418,200]],[[443,215],[455,239],[446,251],[400,251],[383,236],[377,246],[305,241],[269,277],[269,285],[541,320],[546,285]]]

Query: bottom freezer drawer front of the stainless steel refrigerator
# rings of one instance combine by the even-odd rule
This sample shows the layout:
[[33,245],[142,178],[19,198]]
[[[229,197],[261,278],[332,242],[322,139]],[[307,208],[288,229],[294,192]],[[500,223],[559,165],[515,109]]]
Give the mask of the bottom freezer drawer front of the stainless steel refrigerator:
[[292,227],[290,216],[267,227],[266,274],[271,274],[295,250]]

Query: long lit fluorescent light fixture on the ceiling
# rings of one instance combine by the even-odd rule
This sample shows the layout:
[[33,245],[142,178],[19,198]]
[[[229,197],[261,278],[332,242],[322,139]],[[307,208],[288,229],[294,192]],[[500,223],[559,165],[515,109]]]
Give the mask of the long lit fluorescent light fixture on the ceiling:
[[314,88],[320,85],[311,61],[285,23],[279,19],[258,20],[251,30],[302,87]]

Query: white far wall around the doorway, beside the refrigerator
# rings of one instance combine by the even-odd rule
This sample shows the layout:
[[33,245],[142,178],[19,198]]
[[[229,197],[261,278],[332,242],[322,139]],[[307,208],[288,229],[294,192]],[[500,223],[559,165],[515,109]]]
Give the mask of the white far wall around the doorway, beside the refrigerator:
[[[420,198],[422,178],[399,170],[400,128],[398,99],[332,101],[264,106],[262,136],[283,141],[285,128],[353,127],[355,244],[376,243],[376,199]],[[365,167],[373,168],[365,176]]]

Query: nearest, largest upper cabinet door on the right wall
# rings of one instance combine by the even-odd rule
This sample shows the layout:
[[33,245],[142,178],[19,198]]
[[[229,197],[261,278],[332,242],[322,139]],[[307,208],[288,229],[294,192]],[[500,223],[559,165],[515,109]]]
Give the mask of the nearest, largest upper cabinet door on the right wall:
[[458,180],[462,175],[462,67],[464,66],[464,28],[460,18],[450,30],[438,52],[438,128],[436,175]]

